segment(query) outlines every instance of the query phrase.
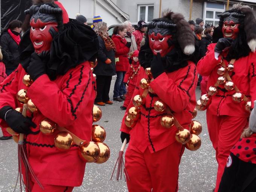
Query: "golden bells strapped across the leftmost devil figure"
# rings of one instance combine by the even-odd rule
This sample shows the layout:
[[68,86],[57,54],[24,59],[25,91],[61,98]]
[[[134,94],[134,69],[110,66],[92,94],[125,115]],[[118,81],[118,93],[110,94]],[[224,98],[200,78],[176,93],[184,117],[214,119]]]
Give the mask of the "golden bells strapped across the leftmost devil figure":
[[[29,87],[33,81],[29,75],[25,75],[23,77],[23,83],[27,87]],[[34,103],[27,97],[27,90],[21,89],[17,93],[17,100],[21,104],[26,104],[27,110],[31,113],[36,113],[38,111],[37,107]],[[15,110],[22,113],[22,108],[18,107]],[[93,106],[93,122],[97,122],[101,119],[102,111],[101,109],[94,105]],[[110,157],[110,149],[108,146],[103,143],[106,138],[106,131],[102,126],[93,125],[92,126],[92,141],[84,141],[76,137],[71,132],[67,131],[65,128],[60,128],[58,125],[50,119],[44,119],[40,123],[40,131],[45,135],[52,135],[56,130],[60,132],[56,134],[54,143],[55,147],[61,151],[65,151],[70,149],[73,144],[79,146],[79,156],[88,163],[104,163]],[[64,130],[64,131],[63,131]],[[8,133],[13,136],[13,139],[16,143],[18,143],[19,134],[15,133],[10,127],[7,128]]]

